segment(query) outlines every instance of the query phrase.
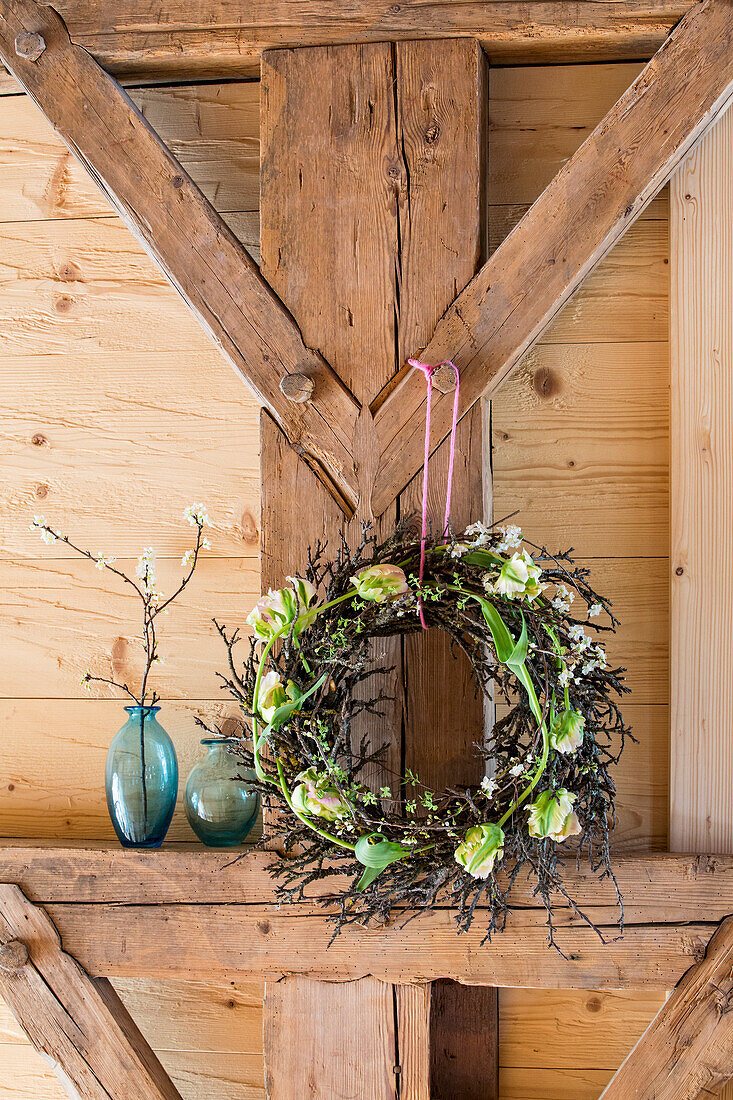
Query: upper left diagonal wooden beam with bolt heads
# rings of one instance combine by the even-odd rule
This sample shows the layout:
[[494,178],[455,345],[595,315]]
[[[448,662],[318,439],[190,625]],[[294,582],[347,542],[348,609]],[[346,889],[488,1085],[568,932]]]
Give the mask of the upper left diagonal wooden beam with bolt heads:
[[[270,409],[291,446],[344,510],[352,512],[358,403],[320,355],[306,348],[256,264],[134,103],[69,41],[53,8],[34,0],[0,3],[0,58]],[[293,374],[314,384],[309,399],[291,399],[282,392],[281,383]]]

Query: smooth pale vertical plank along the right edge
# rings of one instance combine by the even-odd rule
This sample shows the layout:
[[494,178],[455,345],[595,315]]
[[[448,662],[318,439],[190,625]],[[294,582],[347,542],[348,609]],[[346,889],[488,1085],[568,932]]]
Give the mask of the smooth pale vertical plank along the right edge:
[[[733,590],[733,114],[671,187],[670,840],[733,851],[727,668]],[[719,556],[721,565],[718,564]]]

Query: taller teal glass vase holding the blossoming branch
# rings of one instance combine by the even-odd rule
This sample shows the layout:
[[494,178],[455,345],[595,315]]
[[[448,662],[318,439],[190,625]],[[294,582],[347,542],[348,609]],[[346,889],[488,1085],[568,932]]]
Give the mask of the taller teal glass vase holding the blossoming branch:
[[124,710],[128,721],[107,754],[107,807],[123,847],[157,848],[176,807],[178,759],[160,706]]

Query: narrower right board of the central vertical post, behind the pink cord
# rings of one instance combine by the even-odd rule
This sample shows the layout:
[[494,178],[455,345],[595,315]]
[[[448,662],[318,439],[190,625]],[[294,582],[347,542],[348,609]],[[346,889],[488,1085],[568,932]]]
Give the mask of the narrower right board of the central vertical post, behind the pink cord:
[[[481,50],[466,42],[400,43],[396,57],[406,173],[400,205],[402,363],[428,342],[486,254],[488,69]],[[481,404],[459,426],[451,512],[458,530],[490,518],[485,427]],[[434,530],[442,524],[448,457],[446,441],[430,462]],[[418,474],[400,496],[400,516],[418,512],[420,504]],[[482,738],[483,710],[468,660],[452,653],[448,639],[435,630],[408,637],[405,657],[404,766],[437,790],[479,782],[483,761],[474,745]],[[437,691],[437,684],[446,688]]]

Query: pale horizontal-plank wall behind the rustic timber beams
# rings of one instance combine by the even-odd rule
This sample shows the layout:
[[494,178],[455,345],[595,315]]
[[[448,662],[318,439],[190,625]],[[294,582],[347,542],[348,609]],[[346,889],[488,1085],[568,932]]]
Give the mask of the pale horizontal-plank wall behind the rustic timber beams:
[[[494,244],[637,68],[493,70]],[[133,96],[256,254],[258,85]],[[667,228],[663,196],[492,414],[495,515],[519,507],[530,536],[572,541],[624,623],[609,649],[630,666],[641,741],[620,770],[625,848],[667,844]],[[258,409],[23,96],[0,98],[0,835],[110,838],[102,770],[120,704],[84,695],[79,676],[134,671],[134,605],[30,535],[29,517],[120,558],[153,543],[174,575],[179,515],[208,503],[214,550],[163,637],[163,715],[185,778],[193,714],[228,713],[210,616],[241,620],[259,586]],[[190,837],[180,813],[172,837]],[[260,987],[118,988],[185,1098],[263,1094]],[[505,1100],[591,1100],[659,1002],[506,990],[501,1003]],[[0,1100],[61,1096],[0,1013]]]

